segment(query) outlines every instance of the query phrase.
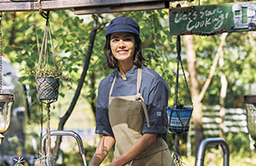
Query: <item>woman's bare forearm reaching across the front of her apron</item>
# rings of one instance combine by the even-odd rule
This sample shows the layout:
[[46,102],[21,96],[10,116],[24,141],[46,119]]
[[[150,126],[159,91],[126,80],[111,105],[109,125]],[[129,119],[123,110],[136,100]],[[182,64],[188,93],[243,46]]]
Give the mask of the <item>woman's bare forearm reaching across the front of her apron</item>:
[[137,140],[137,142],[135,142],[135,144],[130,147],[127,152],[110,163],[109,166],[122,166],[125,165],[125,163],[131,162],[131,160],[147,150],[148,147],[154,143],[156,136],[156,134],[144,134],[139,140]]

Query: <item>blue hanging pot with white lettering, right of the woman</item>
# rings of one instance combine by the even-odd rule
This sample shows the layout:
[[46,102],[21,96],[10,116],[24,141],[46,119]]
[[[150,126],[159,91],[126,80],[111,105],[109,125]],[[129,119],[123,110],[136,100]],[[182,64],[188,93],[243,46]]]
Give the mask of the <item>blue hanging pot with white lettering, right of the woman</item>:
[[168,106],[167,112],[169,131],[176,133],[183,133],[189,131],[190,117],[193,112],[192,106],[183,106],[183,108],[172,108],[172,106]]

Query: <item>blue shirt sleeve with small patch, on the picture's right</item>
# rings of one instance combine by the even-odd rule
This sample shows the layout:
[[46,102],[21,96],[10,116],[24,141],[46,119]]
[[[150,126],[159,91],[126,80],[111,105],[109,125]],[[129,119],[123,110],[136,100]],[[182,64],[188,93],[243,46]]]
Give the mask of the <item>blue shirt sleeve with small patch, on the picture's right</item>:
[[143,134],[167,134],[168,117],[166,106],[168,105],[168,85],[163,79],[154,79],[148,93],[147,109],[150,128],[146,120],[143,125]]

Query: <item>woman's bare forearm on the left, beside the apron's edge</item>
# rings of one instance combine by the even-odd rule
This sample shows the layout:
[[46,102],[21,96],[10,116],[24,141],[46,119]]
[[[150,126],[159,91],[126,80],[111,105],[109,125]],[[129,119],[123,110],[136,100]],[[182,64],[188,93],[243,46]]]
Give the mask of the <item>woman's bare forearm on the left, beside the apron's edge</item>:
[[92,159],[90,160],[89,166],[99,166],[105,157],[107,157],[108,152],[111,150],[114,143],[113,136],[102,135],[101,140],[98,143],[96,152]]

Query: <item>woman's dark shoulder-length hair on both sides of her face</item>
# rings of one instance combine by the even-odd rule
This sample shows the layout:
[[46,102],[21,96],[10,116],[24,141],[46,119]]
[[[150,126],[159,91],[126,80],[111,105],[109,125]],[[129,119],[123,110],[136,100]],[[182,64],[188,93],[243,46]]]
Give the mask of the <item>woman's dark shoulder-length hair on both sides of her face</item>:
[[[133,54],[133,63],[135,66],[140,68],[141,66],[146,66],[145,62],[148,62],[148,60],[144,59],[143,54],[142,54],[142,40],[141,38],[134,33],[131,33],[131,35],[135,39],[135,51]],[[116,60],[111,52],[110,48],[110,36],[111,34],[108,34],[106,37],[106,43],[104,45],[104,54],[107,58],[107,62],[105,64],[105,68],[111,68],[111,69],[116,69],[119,64],[118,60]]]

